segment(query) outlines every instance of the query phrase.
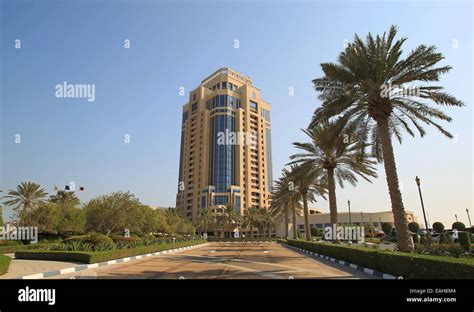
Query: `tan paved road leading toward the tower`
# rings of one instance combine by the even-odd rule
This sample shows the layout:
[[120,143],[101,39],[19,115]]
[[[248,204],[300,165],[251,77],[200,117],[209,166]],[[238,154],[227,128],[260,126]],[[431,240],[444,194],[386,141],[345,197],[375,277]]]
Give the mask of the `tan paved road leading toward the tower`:
[[[374,278],[276,243],[210,243],[170,255],[88,269],[59,278],[97,279],[358,279]],[[58,278],[58,277],[55,277]]]

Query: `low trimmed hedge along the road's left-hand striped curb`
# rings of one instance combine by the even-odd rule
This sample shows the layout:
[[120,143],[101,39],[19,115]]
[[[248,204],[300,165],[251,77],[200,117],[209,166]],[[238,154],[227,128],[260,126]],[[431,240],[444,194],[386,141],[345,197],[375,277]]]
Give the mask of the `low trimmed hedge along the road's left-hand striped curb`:
[[52,250],[31,250],[15,252],[17,259],[31,260],[52,260],[52,261],[71,261],[80,263],[97,263],[126,257],[133,257],[157,251],[187,247],[205,243],[204,240],[179,242],[176,244],[160,244],[150,246],[140,246],[130,249],[115,249],[111,251],[52,251]]

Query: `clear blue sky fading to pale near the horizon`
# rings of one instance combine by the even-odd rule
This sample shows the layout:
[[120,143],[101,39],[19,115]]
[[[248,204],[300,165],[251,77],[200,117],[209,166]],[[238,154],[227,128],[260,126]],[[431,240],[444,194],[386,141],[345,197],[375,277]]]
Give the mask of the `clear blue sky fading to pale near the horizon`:
[[[272,104],[278,177],[294,152],[291,143],[305,140],[299,129],[320,104],[311,85],[321,76],[319,64],[335,61],[355,33],[382,33],[396,24],[408,38],[405,53],[419,44],[438,47],[453,66],[440,83],[466,104],[443,109],[454,119],[447,128],[456,140],[430,129],[423,139],[406,136],[395,145],[405,207],[422,220],[418,175],[430,221],[450,224],[457,214],[467,224],[465,209],[473,210],[472,9],[469,1],[4,0],[0,188],[35,181],[53,192],[74,181],[86,188],[82,201],[122,190],[147,204],[174,206],[182,105],[220,67],[250,76]],[[96,100],[56,98],[55,85],[63,81],[95,84]],[[372,184],[337,195],[341,211],[348,199],[353,211],[390,209],[382,166]],[[312,206],[328,211],[325,201]]]

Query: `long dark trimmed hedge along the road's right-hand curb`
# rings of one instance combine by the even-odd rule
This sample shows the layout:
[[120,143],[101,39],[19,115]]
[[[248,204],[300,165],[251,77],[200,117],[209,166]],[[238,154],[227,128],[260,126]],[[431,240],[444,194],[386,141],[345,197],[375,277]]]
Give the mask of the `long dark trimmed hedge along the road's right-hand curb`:
[[409,279],[474,279],[474,259],[419,255],[297,240],[281,240],[281,242]]

